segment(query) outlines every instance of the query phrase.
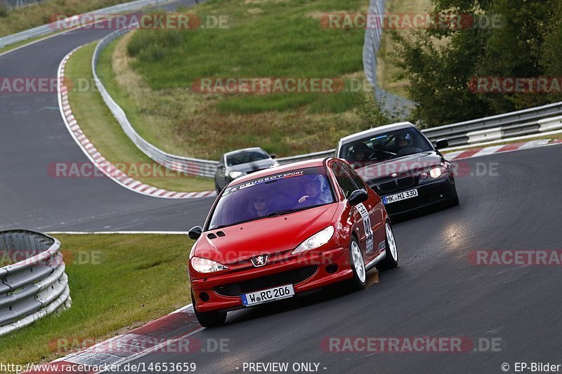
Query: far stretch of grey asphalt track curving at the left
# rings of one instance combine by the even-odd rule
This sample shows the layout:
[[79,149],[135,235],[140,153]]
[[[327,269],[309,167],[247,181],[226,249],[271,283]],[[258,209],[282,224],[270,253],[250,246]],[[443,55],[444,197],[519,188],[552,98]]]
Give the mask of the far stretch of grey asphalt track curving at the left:
[[[112,31],[78,29],[0,56],[0,76],[54,78],[67,53]],[[50,163],[89,162],[60,117],[56,93],[1,93],[0,126],[0,229],[185,231],[202,223],[213,201],[159,199],[108,178],[48,175]]]

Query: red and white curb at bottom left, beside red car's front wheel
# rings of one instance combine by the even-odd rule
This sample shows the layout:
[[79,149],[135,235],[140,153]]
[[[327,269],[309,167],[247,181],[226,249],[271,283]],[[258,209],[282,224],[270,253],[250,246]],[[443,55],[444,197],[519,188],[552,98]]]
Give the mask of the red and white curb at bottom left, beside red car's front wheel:
[[[186,305],[162,318],[135,328],[129,333],[115,336],[79,352],[42,364],[37,370],[26,374],[65,373],[93,374],[104,373],[107,368],[124,366],[152,353],[189,354],[201,352],[201,342],[191,335],[203,330],[197,322],[193,305]],[[111,370],[111,369],[109,369]],[[117,371],[117,370],[113,370]]]

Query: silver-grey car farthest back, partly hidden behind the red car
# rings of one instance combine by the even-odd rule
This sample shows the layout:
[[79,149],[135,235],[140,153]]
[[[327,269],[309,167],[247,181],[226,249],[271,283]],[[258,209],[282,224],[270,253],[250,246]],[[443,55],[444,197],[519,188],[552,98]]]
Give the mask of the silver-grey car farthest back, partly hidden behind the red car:
[[228,183],[242,175],[279,166],[279,163],[273,159],[275,154],[268,154],[259,147],[237,149],[223,154],[215,172],[216,193],[220,194]]

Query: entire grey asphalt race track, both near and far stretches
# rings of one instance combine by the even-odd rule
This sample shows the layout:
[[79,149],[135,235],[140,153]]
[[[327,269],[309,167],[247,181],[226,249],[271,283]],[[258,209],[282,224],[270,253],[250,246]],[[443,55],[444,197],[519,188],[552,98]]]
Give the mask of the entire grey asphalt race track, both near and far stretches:
[[[4,55],[2,75],[55,76],[68,51],[106,32],[77,30]],[[49,177],[48,163],[87,161],[54,93],[1,95],[0,123],[0,229],[175,231],[207,215],[212,199],[157,199],[105,178]],[[457,177],[460,206],[396,224],[400,267],[379,274],[378,283],[370,272],[366,290],[346,294],[334,286],[233,312],[225,326],[193,335],[227,339],[230,352],[159,352],[134,362],[195,362],[196,373],[242,372],[244,362],[320,363],[320,373],[503,373],[502,363],[513,373],[516,361],[562,363],[560,267],[469,261],[476,250],[562,249],[561,161],[562,146],[459,161],[464,170],[497,173]],[[323,349],[330,337],[500,344],[499,352],[336,353]]]

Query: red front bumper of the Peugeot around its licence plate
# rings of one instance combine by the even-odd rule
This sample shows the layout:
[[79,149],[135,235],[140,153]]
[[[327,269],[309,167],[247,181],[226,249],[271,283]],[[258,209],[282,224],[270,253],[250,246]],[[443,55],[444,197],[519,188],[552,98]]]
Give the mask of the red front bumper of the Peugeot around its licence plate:
[[[310,267],[316,267],[315,271],[311,272]],[[240,290],[245,293],[282,286],[287,284],[287,274],[298,273],[299,270],[301,270],[300,274],[306,274],[306,279],[299,281],[299,283],[292,283],[296,295],[344,279],[350,279],[353,276],[349,264],[348,249],[333,248],[319,253],[295,256],[290,260],[263,267],[251,267],[237,272],[209,276],[208,278],[192,279],[191,288],[195,298],[192,301],[197,306],[197,312],[239,309],[243,307],[242,298],[240,298],[240,295],[233,295],[233,290]],[[252,286],[256,288],[256,286],[266,284],[266,287],[251,289]]]

